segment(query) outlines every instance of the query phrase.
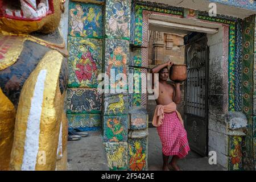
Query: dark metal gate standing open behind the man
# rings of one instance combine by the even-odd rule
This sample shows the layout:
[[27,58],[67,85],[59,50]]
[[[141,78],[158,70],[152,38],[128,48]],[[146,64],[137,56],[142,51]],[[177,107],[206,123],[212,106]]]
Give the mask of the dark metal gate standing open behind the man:
[[193,32],[184,38],[188,78],[185,83],[184,125],[191,150],[208,156],[207,36]]

